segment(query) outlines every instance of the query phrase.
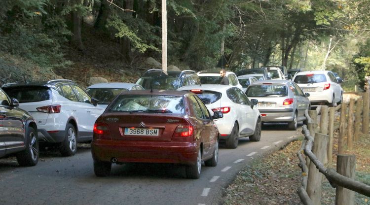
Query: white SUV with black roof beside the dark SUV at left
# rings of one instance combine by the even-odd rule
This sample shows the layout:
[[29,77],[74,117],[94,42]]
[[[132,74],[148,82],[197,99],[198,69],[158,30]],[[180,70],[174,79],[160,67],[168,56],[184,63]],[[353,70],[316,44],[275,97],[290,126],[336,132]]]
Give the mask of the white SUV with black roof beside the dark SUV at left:
[[74,155],[77,142],[92,139],[95,120],[104,111],[72,80],[9,83],[2,89],[35,118],[39,142],[58,143],[63,156]]

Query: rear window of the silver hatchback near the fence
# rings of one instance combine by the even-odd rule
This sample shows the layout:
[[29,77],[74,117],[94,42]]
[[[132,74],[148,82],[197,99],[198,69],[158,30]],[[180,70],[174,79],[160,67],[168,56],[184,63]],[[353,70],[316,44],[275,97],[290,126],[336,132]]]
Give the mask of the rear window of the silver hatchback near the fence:
[[248,97],[283,97],[288,96],[285,85],[250,85],[246,91]]

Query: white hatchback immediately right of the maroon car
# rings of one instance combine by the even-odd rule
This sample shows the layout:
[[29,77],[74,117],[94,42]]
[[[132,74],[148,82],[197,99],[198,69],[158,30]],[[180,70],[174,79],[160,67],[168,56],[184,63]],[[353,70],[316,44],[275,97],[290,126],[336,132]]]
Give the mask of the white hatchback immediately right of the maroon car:
[[223,118],[215,120],[220,132],[220,140],[225,140],[226,147],[236,148],[240,137],[249,137],[250,141],[259,141],[261,119],[256,107],[257,100],[248,97],[237,87],[229,85],[191,85],[178,90],[193,92],[204,102],[211,115],[221,111]]

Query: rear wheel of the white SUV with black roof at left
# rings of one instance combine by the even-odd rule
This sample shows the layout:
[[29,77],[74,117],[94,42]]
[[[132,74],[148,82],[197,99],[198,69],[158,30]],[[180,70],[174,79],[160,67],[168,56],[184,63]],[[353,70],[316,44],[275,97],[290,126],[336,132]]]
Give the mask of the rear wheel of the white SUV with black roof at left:
[[60,153],[62,156],[72,156],[77,152],[77,132],[71,123],[66,126],[66,135],[61,142]]

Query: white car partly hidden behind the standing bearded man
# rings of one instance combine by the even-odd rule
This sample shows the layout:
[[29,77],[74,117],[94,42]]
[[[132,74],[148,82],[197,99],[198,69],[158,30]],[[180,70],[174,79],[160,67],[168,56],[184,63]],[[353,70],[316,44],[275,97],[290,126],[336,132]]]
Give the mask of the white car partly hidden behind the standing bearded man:
[[[201,84],[220,84],[222,79],[220,71],[199,71],[196,74],[199,76]],[[226,70],[226,77],[229,79],[229,85],[235,86],[240,90],[243,89],[235,73]]]

